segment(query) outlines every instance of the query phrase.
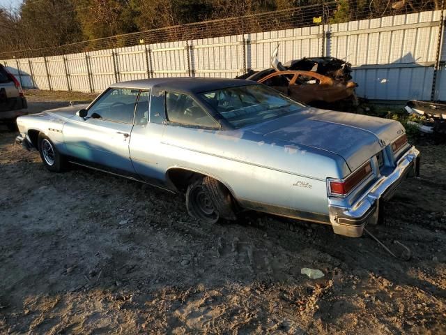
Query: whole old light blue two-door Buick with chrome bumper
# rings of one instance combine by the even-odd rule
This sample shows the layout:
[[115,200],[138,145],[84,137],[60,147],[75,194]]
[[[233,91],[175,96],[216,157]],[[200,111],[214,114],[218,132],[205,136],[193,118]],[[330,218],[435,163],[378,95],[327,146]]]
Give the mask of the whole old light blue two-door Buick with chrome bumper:
[[185,193],[207,223],[254,209],[360,237],[419,170],[399,122],[308,107],[247,80],[120,82],[17,126],[48,170],[75,163]]

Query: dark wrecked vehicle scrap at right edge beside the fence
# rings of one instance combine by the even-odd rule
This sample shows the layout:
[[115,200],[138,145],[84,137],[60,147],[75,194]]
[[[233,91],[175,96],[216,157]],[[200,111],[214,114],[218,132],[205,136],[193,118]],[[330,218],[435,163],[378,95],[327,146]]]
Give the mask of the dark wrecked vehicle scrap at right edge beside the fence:
[[431,101],[408,101],[405,107],[409,114],[416,115],[420,121],[408,121],[422,133],[433,134],[436,140],[446,140],[446,103]]

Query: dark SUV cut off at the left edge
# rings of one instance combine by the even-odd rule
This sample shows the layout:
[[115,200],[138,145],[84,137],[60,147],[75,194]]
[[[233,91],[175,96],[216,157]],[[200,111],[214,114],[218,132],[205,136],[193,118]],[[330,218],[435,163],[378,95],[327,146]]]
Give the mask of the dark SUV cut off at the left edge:
[[17,129],[15,119],[26,115],[28,107],[20,82],[0,64],[0,122],[11,131]]

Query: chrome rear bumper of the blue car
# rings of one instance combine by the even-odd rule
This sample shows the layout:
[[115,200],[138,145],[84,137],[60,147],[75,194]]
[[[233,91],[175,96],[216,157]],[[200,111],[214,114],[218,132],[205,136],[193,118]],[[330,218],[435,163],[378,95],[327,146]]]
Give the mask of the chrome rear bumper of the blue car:
[[411,147],[397,162],[397,167],[387,177],[380,177],[359,200],[349,207],[339,207],[329,199],[330,222],[335,234],[360,237],[367,224],[378,223],[380,200],[392,198],[405,177],[419,174],[420,151]]

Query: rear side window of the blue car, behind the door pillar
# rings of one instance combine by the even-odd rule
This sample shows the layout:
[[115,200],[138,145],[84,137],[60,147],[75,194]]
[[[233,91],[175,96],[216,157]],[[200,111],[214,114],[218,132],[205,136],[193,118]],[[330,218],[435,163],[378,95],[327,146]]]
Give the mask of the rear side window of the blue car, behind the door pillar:
[[217,128],[217,122],[187,94],[166,93],[167,119],[176,124]]

